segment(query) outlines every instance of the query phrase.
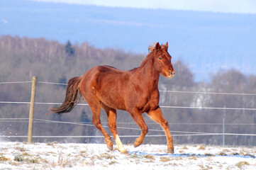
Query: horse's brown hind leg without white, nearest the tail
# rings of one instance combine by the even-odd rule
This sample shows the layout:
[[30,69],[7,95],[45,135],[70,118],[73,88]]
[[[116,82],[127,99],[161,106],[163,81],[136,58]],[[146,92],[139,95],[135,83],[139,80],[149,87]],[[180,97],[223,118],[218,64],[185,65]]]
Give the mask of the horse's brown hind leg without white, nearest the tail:
[[101,120],[100,120],[100,116],[101,116],[101,105],[100,103],[88,103],[90,108],[91,108],[91,113],[92,113],[92,123],[94,123],[94,125],[96,126],[96,128],[98,128],[102,135],[104,135],[104,141],[106,142],[106,145],[108,147],[108,149],[112,150],[113,149],[113,142],[111,141],[111,137],[108,135],[108,133],[106,132],[106,130],[104,130],[104,128],[102,128],[101,125]]

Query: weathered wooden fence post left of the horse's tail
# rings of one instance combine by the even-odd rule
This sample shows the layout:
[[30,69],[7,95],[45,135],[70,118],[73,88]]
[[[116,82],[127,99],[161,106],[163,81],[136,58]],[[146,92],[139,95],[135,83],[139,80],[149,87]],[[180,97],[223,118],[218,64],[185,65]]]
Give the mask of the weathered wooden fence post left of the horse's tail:
[[28,143],[32,143],[36,79],[37,79],[36,77],[32,78],[30,110],[29,110],[29,122],[28,122]]

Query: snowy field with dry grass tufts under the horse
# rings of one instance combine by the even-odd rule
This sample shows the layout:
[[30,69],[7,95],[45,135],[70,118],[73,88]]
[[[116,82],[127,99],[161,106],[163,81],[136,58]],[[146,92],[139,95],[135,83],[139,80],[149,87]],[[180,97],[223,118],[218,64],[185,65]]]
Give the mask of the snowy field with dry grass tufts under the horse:
[[[116,147],[116,145],[114,146]],[[256,147],[125,145],[129,155],[101,144],[0,142],[0,169],[256,169]]]

